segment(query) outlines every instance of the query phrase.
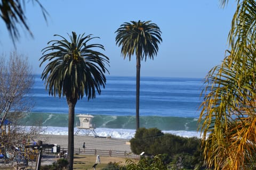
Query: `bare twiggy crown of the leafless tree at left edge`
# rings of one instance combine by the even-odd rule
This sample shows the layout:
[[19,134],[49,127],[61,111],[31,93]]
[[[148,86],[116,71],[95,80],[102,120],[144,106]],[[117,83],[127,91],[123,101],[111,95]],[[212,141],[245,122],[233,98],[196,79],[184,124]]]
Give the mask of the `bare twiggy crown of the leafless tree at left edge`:
[[17,122],[33,106],[26,95],[33,86],[34,76],[27,58],[13,51],[0,56],[0,126],[6,118]]

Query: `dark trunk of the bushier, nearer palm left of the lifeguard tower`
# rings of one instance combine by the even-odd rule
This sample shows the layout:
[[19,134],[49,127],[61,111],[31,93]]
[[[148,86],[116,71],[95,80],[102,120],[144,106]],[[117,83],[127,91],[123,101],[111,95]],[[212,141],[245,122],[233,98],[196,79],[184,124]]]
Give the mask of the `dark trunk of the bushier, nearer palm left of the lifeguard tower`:
[[68,169],[73,170],[74,163],[74,122],[77,98],[67,97],[68,103]]

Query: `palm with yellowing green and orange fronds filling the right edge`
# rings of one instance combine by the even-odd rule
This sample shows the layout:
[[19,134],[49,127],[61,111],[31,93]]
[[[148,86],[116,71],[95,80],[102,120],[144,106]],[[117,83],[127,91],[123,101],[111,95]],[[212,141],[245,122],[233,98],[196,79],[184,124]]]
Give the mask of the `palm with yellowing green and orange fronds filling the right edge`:
[[256,166],[255,18],[255,1],[237,1],[228,55],[206,76],[199,122],[204,157],[214,169]]

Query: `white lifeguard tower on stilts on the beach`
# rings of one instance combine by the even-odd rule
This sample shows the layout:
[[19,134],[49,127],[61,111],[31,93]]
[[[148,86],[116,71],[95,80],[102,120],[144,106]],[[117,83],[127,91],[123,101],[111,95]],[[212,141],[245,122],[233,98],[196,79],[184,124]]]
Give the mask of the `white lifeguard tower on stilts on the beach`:
[[76,126],[77,131],[75,135],[91,135],[98,137],[97,133],[94,131],[95,127],[92,125],[93,115],[79,114],[76,117],[79,118],[80,125]]

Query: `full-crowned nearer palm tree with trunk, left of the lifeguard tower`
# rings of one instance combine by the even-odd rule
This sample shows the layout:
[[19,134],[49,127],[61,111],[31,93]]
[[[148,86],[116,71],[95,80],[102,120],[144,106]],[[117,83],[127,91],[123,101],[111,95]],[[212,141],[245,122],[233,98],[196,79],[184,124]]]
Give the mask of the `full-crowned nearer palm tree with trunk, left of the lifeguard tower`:
[[48,47],[42,49],[43,56],[40,66],[46,61],[41,78],[46,82],[49,95],[66,96],[68,103],[68,162],[69,169],[73,169],[74,159],[74,115],[77,100],[87,96],[95,98],[95,92],[101,93],[101,86],[105,88],[108,72],[106,64],[109,58],[94,49],[104,50],[100,44],[89,44],[90,40],[99,37],[79,35],[75,32],[68,35],[70,41],[60,35],[61,40],[51,40]]

